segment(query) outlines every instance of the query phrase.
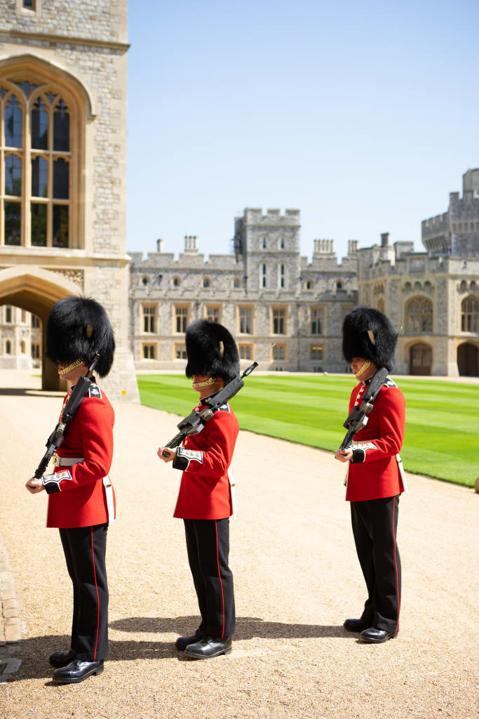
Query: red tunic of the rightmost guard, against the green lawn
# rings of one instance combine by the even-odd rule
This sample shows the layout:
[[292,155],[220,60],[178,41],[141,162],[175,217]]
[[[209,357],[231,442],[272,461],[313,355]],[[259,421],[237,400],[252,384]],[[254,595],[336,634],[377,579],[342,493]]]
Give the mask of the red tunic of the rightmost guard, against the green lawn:
[[[363,394],[364,383],[359,383],[351,393],[349,411],[358,393]],[[361,395],[358,404],[361,404]],[[349,463],[346,500],[363,500],[394,497],[404,492],[404,486],[396,460],[404,439],[406,400],[396,384],[388,377],[373,404],[366,427],[354,436],[353,447],[361,446],[366,452],[364,462]]]

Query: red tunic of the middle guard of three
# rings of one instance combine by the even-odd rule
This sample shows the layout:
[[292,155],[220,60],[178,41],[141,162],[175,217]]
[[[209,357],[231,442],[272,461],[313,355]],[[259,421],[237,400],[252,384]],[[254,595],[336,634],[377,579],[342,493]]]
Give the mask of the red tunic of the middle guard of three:
[[[195,409],[203,408],[199,405]],[[233,513],[228,469],[239,425],[229,405],[215,412],[199,434],[182,446],[188,465],[182,474],[173,516],[182,519],[225,519]]]

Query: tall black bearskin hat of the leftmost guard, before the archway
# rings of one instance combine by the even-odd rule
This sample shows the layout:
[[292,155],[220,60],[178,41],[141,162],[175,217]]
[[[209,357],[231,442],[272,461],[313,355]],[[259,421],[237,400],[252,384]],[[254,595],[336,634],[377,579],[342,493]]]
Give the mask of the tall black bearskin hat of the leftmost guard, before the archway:
[[106,310],[88,297],[65,297],[53,305],[48,316],[47,355],[52,362],[62,365],[70,365],[76,359],[90,365],[103,336],[95,367],[95,374],[100,377],[108,375],[115,352],[115,338]]

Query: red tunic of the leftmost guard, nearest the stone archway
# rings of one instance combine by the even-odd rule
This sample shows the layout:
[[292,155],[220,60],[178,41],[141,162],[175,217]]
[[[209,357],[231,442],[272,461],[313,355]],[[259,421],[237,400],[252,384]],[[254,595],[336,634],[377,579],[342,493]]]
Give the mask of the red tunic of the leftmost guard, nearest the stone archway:
[[90,395],[68,423],[57,450],[59,457],[84,459],[73,467],[55,467],[54,473],[65,472],[65,479],[58,483],[59,492],[48,495],[47,527],[86,527],[108,522],[103,477],[108,476],[113,457],[114,421],[113,407],[103,390],[91,385]]

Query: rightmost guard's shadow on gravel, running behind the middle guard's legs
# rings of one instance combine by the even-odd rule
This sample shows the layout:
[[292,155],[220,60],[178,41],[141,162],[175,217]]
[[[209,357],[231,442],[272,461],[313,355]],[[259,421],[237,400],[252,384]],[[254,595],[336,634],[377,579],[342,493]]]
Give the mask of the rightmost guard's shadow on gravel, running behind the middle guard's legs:
[[[191,634],[200,623],[199,616],[191,617],[129,617],[110,623],[111,629],[132,632],[175,632]],[[267,622],[258,617],[236,617],[235,639],[310,639],[335,636],[351,638],[342,625],[283,624]]]

